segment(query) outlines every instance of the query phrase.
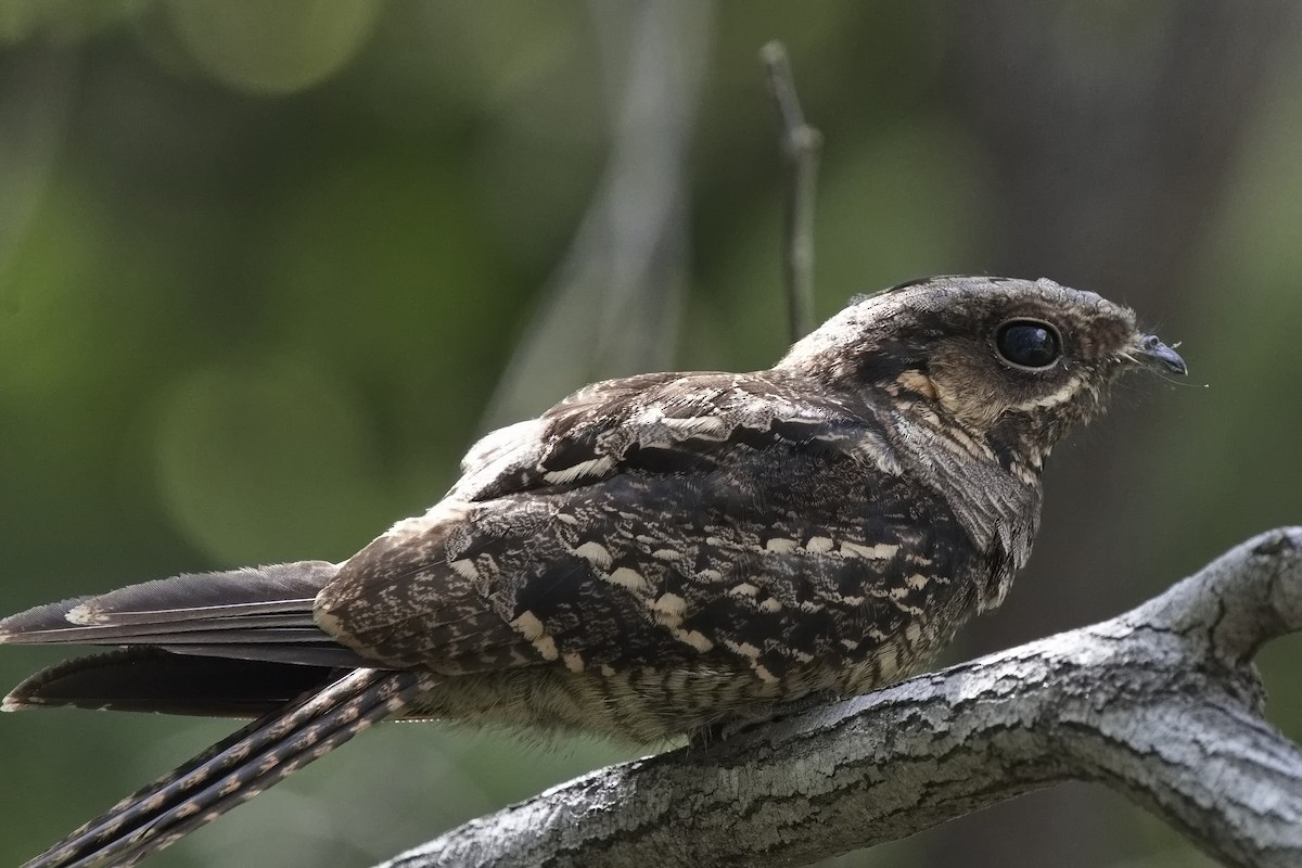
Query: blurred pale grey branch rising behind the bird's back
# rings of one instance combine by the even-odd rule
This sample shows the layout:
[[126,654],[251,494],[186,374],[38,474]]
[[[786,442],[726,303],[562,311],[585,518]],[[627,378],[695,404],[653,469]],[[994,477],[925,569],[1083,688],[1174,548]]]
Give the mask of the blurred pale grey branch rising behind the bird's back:
[[687,284],[687,154],[712,7],[589,4],[609,82],[605,170],[484,414],[490,431],[585,383],[673,362]]

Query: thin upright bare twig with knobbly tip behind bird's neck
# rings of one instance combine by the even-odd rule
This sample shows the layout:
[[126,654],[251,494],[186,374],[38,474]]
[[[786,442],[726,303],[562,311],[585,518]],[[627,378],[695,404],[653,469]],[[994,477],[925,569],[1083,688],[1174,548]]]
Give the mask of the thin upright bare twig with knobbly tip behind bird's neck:
[[823,135],[805,122],[786,48],[771,42],[759,52],[781,124],[781,148],[789,172],[784,216],[783,259],[786,272],[792,340],[805,337],[814,320],[814,206]]

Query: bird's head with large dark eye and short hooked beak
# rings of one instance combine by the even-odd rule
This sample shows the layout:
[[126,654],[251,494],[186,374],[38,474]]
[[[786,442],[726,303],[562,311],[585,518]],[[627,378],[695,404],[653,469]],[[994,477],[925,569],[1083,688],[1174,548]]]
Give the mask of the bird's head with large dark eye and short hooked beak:
[[931,277],[855,299],[777,367],[883,390],[1042,454],[1098,415],[1128,368],[1185,373],[1129,308],[1006,277]]

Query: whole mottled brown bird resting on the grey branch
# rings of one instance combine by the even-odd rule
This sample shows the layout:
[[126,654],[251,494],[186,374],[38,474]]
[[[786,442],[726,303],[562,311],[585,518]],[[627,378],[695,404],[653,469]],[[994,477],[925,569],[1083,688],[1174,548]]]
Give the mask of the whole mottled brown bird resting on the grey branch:
[[594,383],[488,433],[340,563],[5,618],[0,644],[113,648],[5,711],[253,718],[27,864],[134,864],[384,718],[658,743],[900,681],[1000,605],[1046,458],[1134,368],[1186,373],[1092,292],[915,280],[768,370]]

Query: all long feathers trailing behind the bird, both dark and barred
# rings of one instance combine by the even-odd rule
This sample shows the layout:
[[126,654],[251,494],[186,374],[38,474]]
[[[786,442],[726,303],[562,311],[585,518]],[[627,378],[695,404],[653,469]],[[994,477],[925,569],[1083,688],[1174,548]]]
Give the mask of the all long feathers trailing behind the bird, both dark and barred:
[[27,868],[134,864],[432,688],[434,675],[376,668],[314,623],[315,596],[336,573],[333,563],[303,561],[180,575],[0,621],[0,644],[118,648],[36,673],[4,699],[4,711],[258,717]]

